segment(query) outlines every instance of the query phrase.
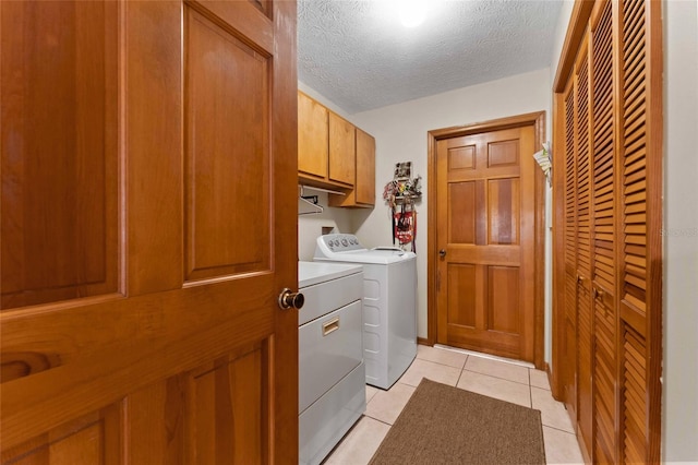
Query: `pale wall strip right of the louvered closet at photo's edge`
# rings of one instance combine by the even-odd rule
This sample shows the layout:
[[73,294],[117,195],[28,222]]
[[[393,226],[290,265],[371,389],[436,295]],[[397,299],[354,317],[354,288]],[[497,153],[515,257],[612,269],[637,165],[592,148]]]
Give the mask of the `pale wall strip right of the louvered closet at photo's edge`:
[[698,462],[698,2],[664,0],[665,462]]

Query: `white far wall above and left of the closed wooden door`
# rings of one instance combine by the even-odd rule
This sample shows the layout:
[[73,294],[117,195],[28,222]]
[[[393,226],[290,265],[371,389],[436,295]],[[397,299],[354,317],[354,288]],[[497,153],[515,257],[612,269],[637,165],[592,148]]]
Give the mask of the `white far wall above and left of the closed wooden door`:
[[422,176],[423,198],[417,204],[418,335],[426,337],[426,133],[430,130],[483,122],[492,119],[546,111],[550,118],[547,69],[460,88],[352,116],[354,124],[376,139],[375,210],[360,224],[357,236],[369,247],[392,242],[388,207],[382,202],[383,187],[393,179],[398,162],[412,162],[412,175]]

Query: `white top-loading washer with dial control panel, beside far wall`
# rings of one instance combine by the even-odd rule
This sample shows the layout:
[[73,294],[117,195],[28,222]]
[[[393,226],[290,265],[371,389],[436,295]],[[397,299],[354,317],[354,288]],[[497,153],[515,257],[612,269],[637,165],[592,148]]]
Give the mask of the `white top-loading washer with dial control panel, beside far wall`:
[[329,234],[317,238],[313,260],[363,265],[366,383],[389,389],[417,356],[417,254]]

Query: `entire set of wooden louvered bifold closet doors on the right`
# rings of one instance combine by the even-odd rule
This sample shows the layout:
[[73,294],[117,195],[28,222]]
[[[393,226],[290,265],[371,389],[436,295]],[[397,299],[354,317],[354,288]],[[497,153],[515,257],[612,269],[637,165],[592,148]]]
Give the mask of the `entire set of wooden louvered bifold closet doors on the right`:
[[[555,82],[553,384],[586,458],[654,463],[661,429],[661,22],[578,2]],[[568,71],[564,71],[567,69]],[[576,337],[576,345],[570,344]],[[555,362],[555,361],[554,361]],[[571,371],[574,370],[574,377]]]

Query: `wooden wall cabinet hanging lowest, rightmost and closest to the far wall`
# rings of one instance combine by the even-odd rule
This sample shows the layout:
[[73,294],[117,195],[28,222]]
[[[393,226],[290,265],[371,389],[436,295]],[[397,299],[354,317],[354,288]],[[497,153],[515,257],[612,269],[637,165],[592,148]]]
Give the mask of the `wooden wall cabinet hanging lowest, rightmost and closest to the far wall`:
[[346,195],[329,194],[329,206],[372,207],[375,205],[375,139],[356,130],[356,180]]

